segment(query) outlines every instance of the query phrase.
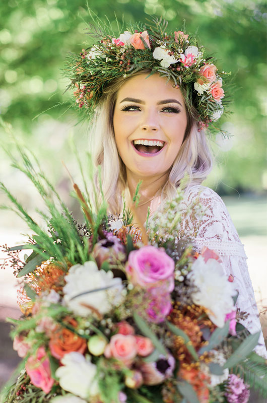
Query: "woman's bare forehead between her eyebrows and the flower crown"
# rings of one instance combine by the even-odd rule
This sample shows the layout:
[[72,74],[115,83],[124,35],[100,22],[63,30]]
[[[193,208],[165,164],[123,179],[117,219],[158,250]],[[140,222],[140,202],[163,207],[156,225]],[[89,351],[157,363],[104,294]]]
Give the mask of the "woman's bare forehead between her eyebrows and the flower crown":
[[149,77],[147,73],[140,74],[123,83],[117,93],[117,101],[120,102],[129,96],[145,102],[173,98],[184,103],[181,90],[174,88],[171,80],[167,81],[165,77],[161,77],[157,73]]

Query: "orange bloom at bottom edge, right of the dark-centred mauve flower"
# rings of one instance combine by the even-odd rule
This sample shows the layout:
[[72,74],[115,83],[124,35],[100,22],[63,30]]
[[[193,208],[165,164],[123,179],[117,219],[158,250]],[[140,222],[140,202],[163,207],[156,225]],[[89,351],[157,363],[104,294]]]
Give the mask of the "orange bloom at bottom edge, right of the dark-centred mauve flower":
[[194,368],[189,370],[180,368],[178,376],[180,376],[182,379],[185,379],[192,385],[199,401],[202,403],[208,403],[209,389],[207,388],[207,384],[209,377],[206,374]]

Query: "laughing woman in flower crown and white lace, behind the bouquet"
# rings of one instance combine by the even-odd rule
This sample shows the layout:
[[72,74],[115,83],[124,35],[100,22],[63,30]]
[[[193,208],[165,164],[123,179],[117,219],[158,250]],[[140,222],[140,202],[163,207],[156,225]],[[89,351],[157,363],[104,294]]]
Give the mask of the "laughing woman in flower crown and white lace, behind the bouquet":
[[[90,151],[101,166],[103,193],[119,216],[122,192],[130,205],[142,180],[136,215],[144,223],[148,209],[153,214],[185,187],[182,233],[196,251],[207,246],[221,256],[239,292],[237,306],[249,313],[243,323],[255,333],[260,323],[243,245],[222,199],[201,185],[212,167],[205,130],[224,111],[225,73],[194,39],[182,31],[163,33],[155,24],[150,34],[137,26],[118,38],[102,36],[75,60],[72,83],[79,107],[93,109]],[[206,208],[198,218],[187,214],[196,197]],[[262,333],[259,344],[257,352],[267,356]]]

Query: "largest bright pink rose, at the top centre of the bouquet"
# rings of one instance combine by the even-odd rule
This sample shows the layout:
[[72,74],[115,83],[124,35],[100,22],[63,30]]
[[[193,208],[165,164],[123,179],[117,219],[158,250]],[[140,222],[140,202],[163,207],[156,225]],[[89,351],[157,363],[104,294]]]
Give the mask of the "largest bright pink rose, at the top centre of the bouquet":
[[168,283],[168,291],[174,288],[174,261],[165,250],[155,246],[144,246],[132,250],[125,267],[126,273],[134,285],[157,287]]

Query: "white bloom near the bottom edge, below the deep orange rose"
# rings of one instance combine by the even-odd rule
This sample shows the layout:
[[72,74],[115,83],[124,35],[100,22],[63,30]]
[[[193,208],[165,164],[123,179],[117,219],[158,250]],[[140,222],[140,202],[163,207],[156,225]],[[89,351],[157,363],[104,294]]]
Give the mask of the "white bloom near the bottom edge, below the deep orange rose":
[[63,365],[57,368],[55,375],[59,378],[59,385],[62,389],[84,399],[98,394],[95,364],[77,352],[65,354],[61,359],[61,364]]

